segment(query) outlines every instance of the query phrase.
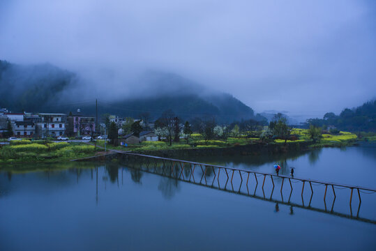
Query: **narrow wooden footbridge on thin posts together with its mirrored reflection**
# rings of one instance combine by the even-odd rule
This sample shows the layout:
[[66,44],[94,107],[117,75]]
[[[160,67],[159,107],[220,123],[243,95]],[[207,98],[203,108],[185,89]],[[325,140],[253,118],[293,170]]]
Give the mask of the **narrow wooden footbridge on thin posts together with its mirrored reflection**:
[[[322,213],[331,213],[333,215],[338,215],[340,217],[345,217],[345,218],[352,218],[355,220],[361,220],[363,222],[370,222],[373,224],[376,224],[376,220],[370,220],[366,218],[360,218],[359,217],[359,210],[361,208],[361,193],[369,194],[369,193],[374,193],[376,192],[376,189],[373,188],[365,188],[357,185],[344,185],[340,183],[333,183],[333,182],[325,182],[325,181],[317,181],[313,179],[308,179],[308,178],[296,178],[294,176],[285,176],[285,175],[277,175],[277,174],[268,174],[268,173],[263,173],[263,172],[255,172],[251,170],[246,170],[246,169],[236,169],[232,167],[223,167],[223,166],[218,166],[218,165],[209,165],[209,164],[204,164],[204,163],[199,163],[199,162],[192,162],[192,161],[187,161],[187,160],[176,160],[172,158],[162,158],[162,157],[157,157],[157,156],[152,156],[152,155],[144,155],[144,154],[139,154],[139,153],[129,153],[129,152],[122,152],[121,158],[125,158],[128,160],[128,163],[133,163],[133,166],[130,166],[131,168],[137,168],[141,169],[144,172],[149,172],[153,174],[158,174],[161,176],[168,176],[172,178],[177,178],[181,181],[188,182],[188,183],[194,183],[196,185],[202,185],[205,187],[209,188],[214,188],[218,190],[223,190],[226,192],[234,192],[239,195],[245,195],[248,197],[255,197],[257,199],[264,199],[268,201],[274,201],[276,203],[280,204],[287,204],[290,206],[296,206],[299,208],[308,208],[310,210],[314,211],[319,211]],[[195,180],[195,170],[197,173],[197,169],[200,169],[202,171],[202,174],[200,174],[200,181]],[[197,176],[197,174],[196,174]],[[210,182],[206,180],[206,177],[213,176],[213,178],[210,178]],[[221,177],[221,178],[220,178]],[[240,178],[240,183],[239,183],[239,188],[237,188],[237,183],[236,183],[236,189],[234,188],[234,177],[239,180]],[[265,197],[265,192],[264,192],[264,185],[266,179],[269,179],[271,182],[271,195],[269,198]],[[282,200],[278,199],[272,199],[273,197],[273,192],[276,188],[276,183],[278,179],[282,179],[280,182],[280,195]],[[215,181],[218,183],[218,186],[214,185]],[[220,185],[221,182],[225,182],[225,185]],[[231,184],[231,187],[229,185],[229,188],[227,188],[227,183]],[[254,182],[255,183],[255,190],[254,192],[250,192],[248,188],[248,184]],[[244,183],[244,185],[243,185]],[[284,201],[283,199],[283,187],[286,185],[289,186],[289,199],[288,201]],[[301,185],[301,199],[302,199],[302,204],[296,204],[290,202],[290,198],[292,195],[292,191],[294,190],[294,186],[298,187],[298,185],[295,185],[296,183],[302,183]],[[303,192],[306,188],[306,184],[309,185],[310,188],[310,201],[308,206],[304,204],[304,199],[303,199]],[[246,187],[247,192],[241,192],[241,188]],[[256,195],[256,190],[257,187],[261,186],[263,196]],[[313,208],[311,205],[311,201],[313,199],[313,194],[314,194],[314,189],[313,185],[324,185],[325,190],[324,190],[324,209],[321,208]],[[329,193],[328,191],[331,190],[330,192],[333,194],[333,203],[331,206],[331,210],[329,211],[328,208],[326,208],[326,195]],[[349,190],[349,208],[350,208],[350,214],[345,214],[345,213],[337,213],[333,211],[334,207],[334,202],[336,201],[336,189],[348,189]],[[300,191],[300,188],[299,188]],[[352,213],[352,201],[353,201],[353,195],[354,191],[357,193],[357,197],[359,198],[359,206],[356,215],[353,215]]]

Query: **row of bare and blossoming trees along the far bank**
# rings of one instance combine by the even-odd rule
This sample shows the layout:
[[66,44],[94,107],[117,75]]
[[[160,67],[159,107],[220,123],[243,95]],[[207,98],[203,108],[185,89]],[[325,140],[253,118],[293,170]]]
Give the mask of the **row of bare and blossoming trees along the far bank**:
[[[112,128],[115,123],[110,123],[108,116],[109,114],[106,114],[105,121]],[[180,142],[181,139],[184,139],[188,144],[193,134],[202,136],[206,144],[211,139],[220,139],[227,142],[229,137],[260,139],[262,142],[283,139],[286,143],[292,132],[292,128],[287,125],[287,119],[283,114],[276,114],[270,123],[266,119],[262,121],[242,119],[241,121],[223,124],[218,123],[213,116],[195,117],[189,121],[184,121],[172,109],[168,109],[152,123],[153,128],[149,123],[149,113],[142,113],[139,118],[136,120],[130,117],[126,118],[125,123],[121,125],[123,134],[133,134],[138,137],[142,130],[152,130],[158,135],[159,141],[165,139],[170,145],[172,145],[172,142]]]

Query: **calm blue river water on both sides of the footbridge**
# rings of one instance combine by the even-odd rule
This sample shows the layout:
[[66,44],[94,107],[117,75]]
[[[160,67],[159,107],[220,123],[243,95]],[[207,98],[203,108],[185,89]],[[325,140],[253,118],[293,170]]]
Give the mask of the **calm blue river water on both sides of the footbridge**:
[[[260,172],[273,172],[278,162],[285,174],[294,167],[298,177],[376,187],[376,148],[369,144],[297,155],[193,160]],[[2,167],[0,250],[375,250],[376,225],[343,216],[350,215],[349,190],[336,190],[334,204],[328,192],[325,205],[323,187],[317,186],[307,208],[311,193],[307,188],[302,199],[301,186],[289,197],[287,185],[281,195],[271,192],[266,181],[263,193],[251,180],[248,190],[245,185],[239,189],[250,192],[246,196],[133,167]],[[197,177],[199,182],[200,173]],[[208,174],[209,186],[212,179]],[[239,178],[233,186],[237,191]],[[227,189],[232,190],[228,184]],[[359,209],[359,218],[376,220],[376,194],[361,196],[360,209],[354,197],[352,213]],[[287,199],[290,204],[276,202]],[[338,215],[329,213],[332,206]]]

